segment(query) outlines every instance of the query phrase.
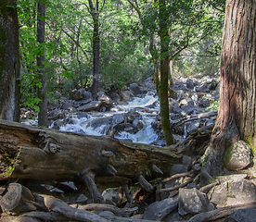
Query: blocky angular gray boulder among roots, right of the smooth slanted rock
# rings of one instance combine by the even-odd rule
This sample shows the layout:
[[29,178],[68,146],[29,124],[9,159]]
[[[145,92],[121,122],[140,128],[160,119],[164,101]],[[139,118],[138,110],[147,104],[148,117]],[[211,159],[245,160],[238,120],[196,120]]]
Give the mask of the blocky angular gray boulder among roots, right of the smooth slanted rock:
[[204,192],[193,189],[179,190],[179,207],[178,212],[181,216],[188,214],[199,214],[214,210],[214,205],[210,203]]

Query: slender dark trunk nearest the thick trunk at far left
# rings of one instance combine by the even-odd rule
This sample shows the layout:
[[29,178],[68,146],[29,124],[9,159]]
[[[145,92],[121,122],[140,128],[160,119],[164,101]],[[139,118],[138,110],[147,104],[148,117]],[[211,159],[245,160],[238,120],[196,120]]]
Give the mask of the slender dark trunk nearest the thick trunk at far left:
[[45,42],[45,3],[44,1],[38,2],[38,15],[37,15],[37,42],[43,51],[40,56],[36,57],[38,66],[38,75],[42,83],[42,87],[38,87],[38,97],[41,99],[38,106],[40,108],[38,114],[38,124],[40,126],[48,127],[47,115],[47,93],[46,93],[46,73],[45,73],[45,47],[40,45]]

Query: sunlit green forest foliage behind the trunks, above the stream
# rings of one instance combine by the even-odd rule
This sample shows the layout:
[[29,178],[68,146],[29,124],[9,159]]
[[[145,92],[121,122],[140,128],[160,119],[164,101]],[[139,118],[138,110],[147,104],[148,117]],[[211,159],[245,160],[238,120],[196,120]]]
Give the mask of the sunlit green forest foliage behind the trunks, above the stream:
[[160,2],[144,0],[41,2],[44,43],[37,39],[37,1],[17,1],[21,104],[37,111],[37,90],[42,87],[38,56],[45,55],[48,99],[54,99],[56,92],[92,87],[96,41],[100,89],[122,90],[126,84],[153,76],[154,64],[160,63],[160,13],[170,37],[173,75],[211,75],[219,70],[224,1],[166,1],[164,10]]

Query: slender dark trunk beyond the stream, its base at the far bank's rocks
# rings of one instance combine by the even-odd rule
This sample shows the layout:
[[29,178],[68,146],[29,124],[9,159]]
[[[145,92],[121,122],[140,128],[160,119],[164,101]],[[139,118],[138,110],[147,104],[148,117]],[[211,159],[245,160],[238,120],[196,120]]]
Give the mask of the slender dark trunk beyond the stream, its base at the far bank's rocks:
[[96,0],[96,6],[94,6],[92,0],[89,1],[91,9],[91,15],[94,20],[94,34],[93,34],[93,52],[94,52],[94,67],[93,67],[93,85],[92,95],[96,99],[96,93],[99,91],[99,54],[100,54],[100,39],[99,39],[99,11],[98,0]]

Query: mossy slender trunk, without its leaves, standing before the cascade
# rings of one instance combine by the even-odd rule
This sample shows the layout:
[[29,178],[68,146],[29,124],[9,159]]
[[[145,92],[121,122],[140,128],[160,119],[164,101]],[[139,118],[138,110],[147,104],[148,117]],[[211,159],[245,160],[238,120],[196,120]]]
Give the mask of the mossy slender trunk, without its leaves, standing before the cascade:
[[160,7],[160,116],[161,127],[166,145],[173,144],[173,133],[170,126],[170,111],[168,100],[169,69],[169,43],[170,37],[167,26],[167,13],[165,0],[159,1]]

